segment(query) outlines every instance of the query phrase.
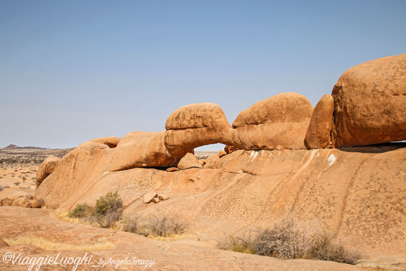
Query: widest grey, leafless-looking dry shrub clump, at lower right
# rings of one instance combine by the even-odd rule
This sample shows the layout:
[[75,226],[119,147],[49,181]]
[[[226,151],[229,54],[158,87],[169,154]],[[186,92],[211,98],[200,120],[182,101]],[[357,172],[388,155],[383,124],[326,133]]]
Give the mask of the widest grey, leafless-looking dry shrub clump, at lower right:
[[357,251],[341,245],[335,234],[322,230],[318,225],[299,223],[290,213],[271,229],[220,238],[217,246],[223,250],[282,259],[317,259],[355,264],[360,258]]

